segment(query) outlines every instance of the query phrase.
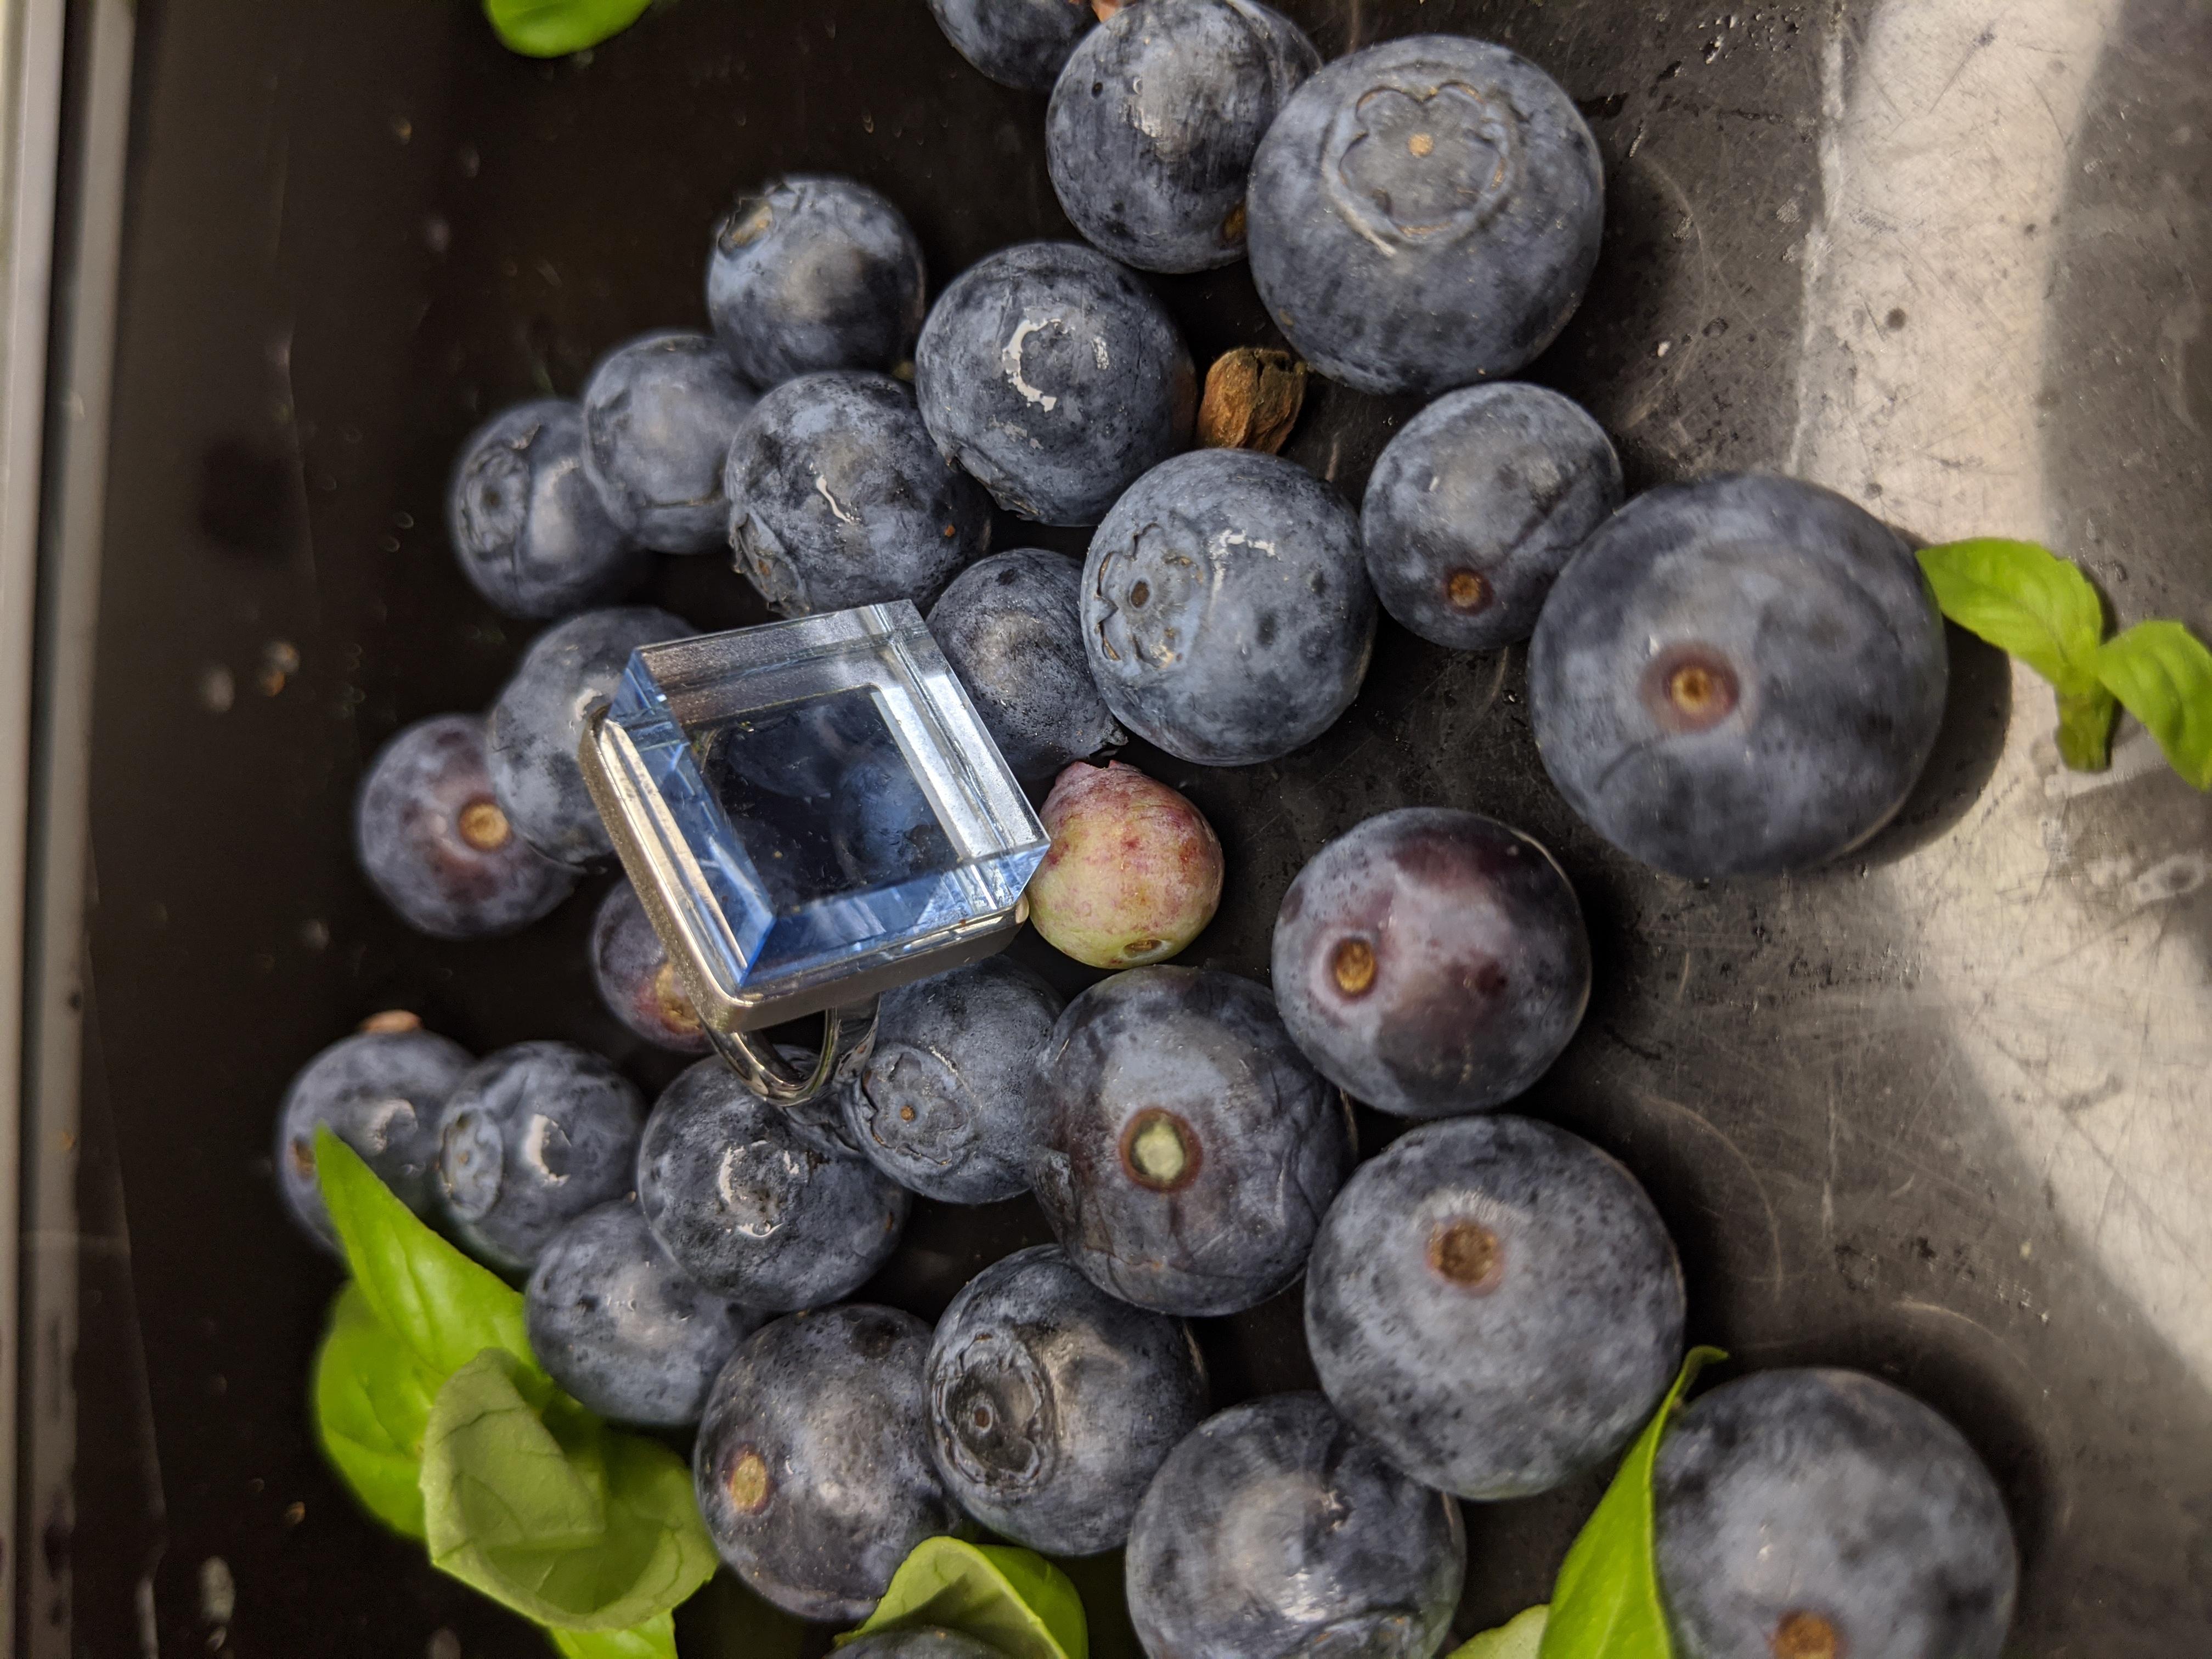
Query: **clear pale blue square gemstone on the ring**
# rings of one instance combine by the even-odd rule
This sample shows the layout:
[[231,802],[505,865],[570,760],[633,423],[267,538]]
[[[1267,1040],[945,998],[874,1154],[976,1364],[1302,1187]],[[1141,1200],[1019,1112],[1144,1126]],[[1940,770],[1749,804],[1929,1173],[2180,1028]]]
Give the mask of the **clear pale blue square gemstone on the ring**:
[[1002,914],[1048,847],[905,599],[630,655],[606,719],[730,995],[821,982]]

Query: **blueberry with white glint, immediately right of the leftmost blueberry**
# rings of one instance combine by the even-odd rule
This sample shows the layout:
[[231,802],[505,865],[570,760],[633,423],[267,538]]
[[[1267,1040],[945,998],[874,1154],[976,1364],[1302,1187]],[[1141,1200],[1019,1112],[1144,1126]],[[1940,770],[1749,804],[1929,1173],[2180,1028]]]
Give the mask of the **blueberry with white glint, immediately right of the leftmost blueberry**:
[[630,1192],[646,1104],[599,1055],[518,1042],[476,1062],[438,1121],[438,1194],[453,1239],[529,1272],[555,1232]]

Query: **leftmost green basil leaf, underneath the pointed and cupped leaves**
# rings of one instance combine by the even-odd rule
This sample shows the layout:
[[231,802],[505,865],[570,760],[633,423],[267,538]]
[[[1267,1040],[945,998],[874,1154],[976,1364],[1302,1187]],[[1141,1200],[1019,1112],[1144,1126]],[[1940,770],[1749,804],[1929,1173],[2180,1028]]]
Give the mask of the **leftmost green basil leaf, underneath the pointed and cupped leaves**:
[[436,1398],[438,1378],[361,1287],[341,1290],[314,1356],[314,1433],[369,1513],[407,1537],[422,1537],[422,1427]]

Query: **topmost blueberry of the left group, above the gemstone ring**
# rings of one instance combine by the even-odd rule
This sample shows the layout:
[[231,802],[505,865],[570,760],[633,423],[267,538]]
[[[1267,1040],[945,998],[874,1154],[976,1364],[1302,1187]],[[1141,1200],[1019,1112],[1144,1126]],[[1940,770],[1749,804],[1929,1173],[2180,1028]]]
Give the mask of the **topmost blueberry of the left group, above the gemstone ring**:
[[856,179],[794,173],[714,230],[706,312],[759,387],[821,369],[896,369],[922,327],[922,243]]

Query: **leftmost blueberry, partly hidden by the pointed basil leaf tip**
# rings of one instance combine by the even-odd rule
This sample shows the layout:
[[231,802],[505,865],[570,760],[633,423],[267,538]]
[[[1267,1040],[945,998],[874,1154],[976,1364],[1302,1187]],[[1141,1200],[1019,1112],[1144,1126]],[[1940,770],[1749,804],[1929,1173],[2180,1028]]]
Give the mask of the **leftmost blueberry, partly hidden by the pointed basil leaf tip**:
[[276,1110],[276,1190],[299,1230],[338,1248],[314,1172],[314,1130],[325,1124],[400,1203],[436,1214],[438,1113],[473,1064],[429,1031],[358,1031],[301,1066]]

